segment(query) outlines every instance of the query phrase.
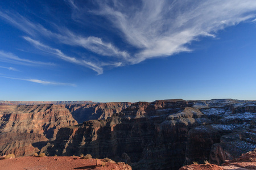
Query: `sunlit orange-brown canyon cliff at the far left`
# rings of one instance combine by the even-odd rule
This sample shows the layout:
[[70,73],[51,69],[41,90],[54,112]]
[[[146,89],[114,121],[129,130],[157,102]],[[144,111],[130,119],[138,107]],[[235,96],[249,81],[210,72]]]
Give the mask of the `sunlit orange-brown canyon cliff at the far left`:
[[64,105],[0,105],[0,155],[31,155],[60,128],[76,124]]

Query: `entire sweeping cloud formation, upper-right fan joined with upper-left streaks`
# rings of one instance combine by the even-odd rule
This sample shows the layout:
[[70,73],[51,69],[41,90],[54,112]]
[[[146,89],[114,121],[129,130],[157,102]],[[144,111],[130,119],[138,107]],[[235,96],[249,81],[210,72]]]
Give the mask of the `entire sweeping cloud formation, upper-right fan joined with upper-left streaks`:
[[[255,22],[256,1],[254,0],[230,0],[230,1],[168,1],[168,0],[141,0],[134,1],[94,1],[97,9],[89,9],[81,6],[80,1],[64,0],[76,13],[75,16],[86,20],[90,15],[100,15],[112,23],[109,29],[116,28],[113,32],[137,49],[135,52],[121,50],[114,42],[106,42],[97,36],[82,36],[64,26],[51,22],[51,28],[55,25],[55,31],[47,29],[39,23],[33,23],[20,14],[0,11],[3,18],[16,28],[27,33],[30,37],[24,37],[36,48],[53,54],[65,61],[82,65],[102,74],[105,66],[123,66],[135,64],[154,57],[168,57],[180,52],[190,52],[188,47],[194,40],[202,36],[215,37],[217,31],[236,25],[247,20]],[[55,43],[69,46],[80,46],[100,56],[95,61],[81,59],[84,56],[69,57],[60,49],[52,48],[40,37],[55,40]],[[108,36],[108,35],[105,35]],[[32,38],[31,38],[32,37]],[[125,49],[125,48],[123,48]],[[98,56],[96,55],[96,56]],[[102,59],[104,58],[104,59]],[[18,61],[16,61],[18,62]]]

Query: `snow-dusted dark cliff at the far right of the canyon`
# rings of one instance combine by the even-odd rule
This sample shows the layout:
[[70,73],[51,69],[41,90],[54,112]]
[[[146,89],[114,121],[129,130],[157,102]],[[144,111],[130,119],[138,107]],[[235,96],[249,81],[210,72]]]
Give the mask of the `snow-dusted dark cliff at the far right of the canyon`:
[[220,165],[256,148],[256,102],[221,101],[210,100],[205,103],[207,107],[201,107],[213,124],[189,131],[187,164],[209,160]]

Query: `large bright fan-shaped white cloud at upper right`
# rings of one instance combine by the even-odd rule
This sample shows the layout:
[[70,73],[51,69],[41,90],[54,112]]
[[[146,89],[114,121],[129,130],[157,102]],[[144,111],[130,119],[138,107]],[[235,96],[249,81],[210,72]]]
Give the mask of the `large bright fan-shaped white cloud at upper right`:
[[100,9],[93,13],[106,17],[127,42],[141,49],[129,58],[131,63],[190,51],[191,41],[255,18],[256,11],[254,0],[97,2]]

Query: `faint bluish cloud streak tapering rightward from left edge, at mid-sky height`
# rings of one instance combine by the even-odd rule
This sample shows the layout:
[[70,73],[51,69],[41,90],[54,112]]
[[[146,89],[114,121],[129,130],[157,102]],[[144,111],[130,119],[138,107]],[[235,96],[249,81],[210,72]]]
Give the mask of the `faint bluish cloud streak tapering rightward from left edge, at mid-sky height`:
[[26,65],[26,66],[54,66],[54,63],[50,62],[42,62],[42,61],[34,61],[30,59],[20,58],[15,56],[13,53],[3,52],[0,50],[0,61],[8,62],[8,63],[15,63],[19,65]]

